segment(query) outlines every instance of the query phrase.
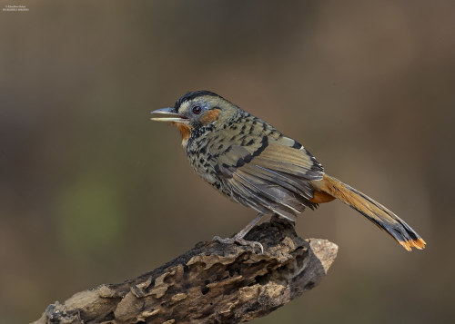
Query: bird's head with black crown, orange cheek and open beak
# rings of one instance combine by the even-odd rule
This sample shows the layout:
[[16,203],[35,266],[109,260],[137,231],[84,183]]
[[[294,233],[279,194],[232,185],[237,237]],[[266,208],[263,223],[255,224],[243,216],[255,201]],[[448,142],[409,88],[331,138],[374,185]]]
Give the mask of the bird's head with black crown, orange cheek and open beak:
[[152,113],[160,116],[151,120],[177,125],[185,143],[192,133],[197,133],[201,129],[210,128],[212,131],[217,129],[217,126],[226,123],[237,110],[235,104],[229,103],[217,93],[196,91],[180,97],[174,107],[153,111]]

